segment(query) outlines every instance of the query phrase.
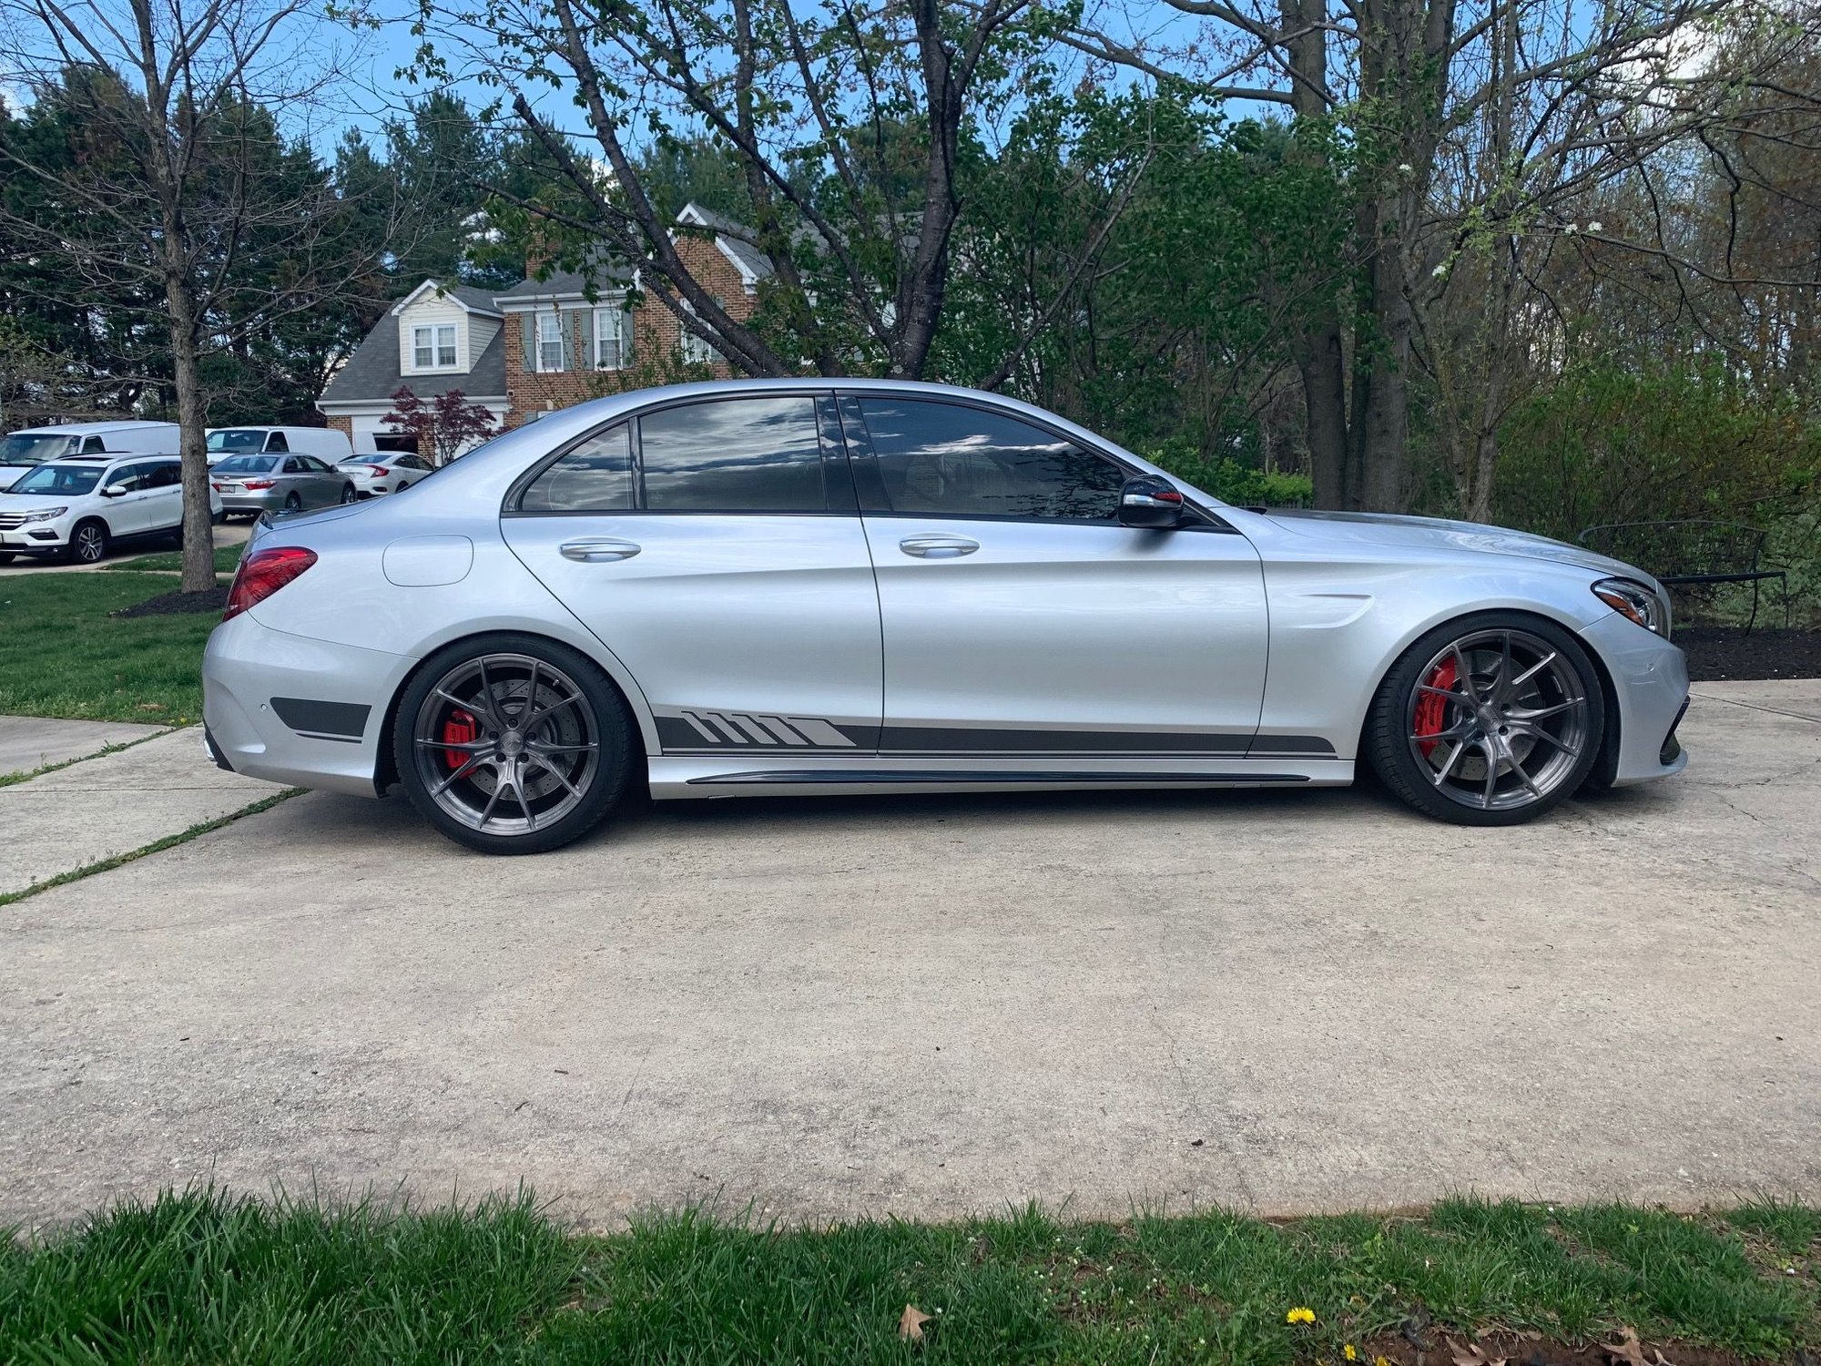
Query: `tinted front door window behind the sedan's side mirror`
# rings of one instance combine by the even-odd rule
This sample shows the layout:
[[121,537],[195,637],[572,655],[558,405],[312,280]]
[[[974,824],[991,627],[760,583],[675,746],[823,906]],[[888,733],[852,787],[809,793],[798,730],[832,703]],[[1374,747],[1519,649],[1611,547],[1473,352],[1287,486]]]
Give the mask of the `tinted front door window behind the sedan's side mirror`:
[[1116,521],[1125,470],[1016,417],[921,399],[861,399],[892,512]]

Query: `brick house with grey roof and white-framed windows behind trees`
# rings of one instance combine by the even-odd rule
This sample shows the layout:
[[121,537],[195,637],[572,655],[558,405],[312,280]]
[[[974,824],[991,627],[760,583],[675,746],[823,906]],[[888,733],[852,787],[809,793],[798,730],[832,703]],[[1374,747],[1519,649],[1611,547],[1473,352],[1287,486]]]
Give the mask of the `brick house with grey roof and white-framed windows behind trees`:
[[[677,255],[734,319],[748,319],[770,260],[748,229],[696,204],[677,215]],[[738,233],[732,235],[732,233]],[[424,280],[382,317],[317,401],[328,424],[346,432],[357,452],[395,450],[386,428],[392,395],[410,388],[421,399],[459,390],[503,426],[521,426],[546,412],[654,382],[659,373],[727,377],[730,366],[656,295],[628,306],[634,275],[608,266],[581,275],[526,277],[510,290]]]

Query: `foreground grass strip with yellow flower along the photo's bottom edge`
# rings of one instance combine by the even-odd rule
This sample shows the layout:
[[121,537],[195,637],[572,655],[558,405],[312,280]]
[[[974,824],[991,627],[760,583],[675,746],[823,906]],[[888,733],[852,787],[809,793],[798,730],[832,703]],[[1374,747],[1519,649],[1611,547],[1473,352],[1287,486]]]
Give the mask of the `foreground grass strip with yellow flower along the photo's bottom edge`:
[[1817,1255],[1821,1217],[1779,1202],[796,1231],[687,1213],[575,1237],[528,1197],[397,1215],[188,1193],[0,1248],[0,1361],[1342,1366],[1415,1361],[1406,1328],[1431,1362],[1444,1335],[1624,1330],[1799,1361]]

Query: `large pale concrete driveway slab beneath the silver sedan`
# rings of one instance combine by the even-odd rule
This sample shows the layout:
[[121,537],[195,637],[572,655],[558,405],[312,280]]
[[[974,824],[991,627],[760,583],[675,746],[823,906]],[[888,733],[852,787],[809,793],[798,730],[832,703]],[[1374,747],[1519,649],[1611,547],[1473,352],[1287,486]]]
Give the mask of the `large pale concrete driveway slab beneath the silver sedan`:
[[668,805],[486,860],[304,796],[0,907],[0,1220],[160,1184],[608,1224],[1821,1198],[1821,683],[1521,831],[1371,792]]

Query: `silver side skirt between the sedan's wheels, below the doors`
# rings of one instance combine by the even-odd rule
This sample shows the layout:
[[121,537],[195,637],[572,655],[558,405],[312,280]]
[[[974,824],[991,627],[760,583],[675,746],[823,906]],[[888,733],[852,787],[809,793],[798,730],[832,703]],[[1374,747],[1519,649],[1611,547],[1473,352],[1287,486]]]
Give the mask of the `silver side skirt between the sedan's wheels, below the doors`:
[[1338,787],[1353,781],[1351,759],[1069,759],[1042,765],[1016,759],[931,763],[876,754],[809,759],[801,750],[758,754],[654,756],[652,796],[659,801],[750,796],[869,796],[883,792],[1033,792],[1156,787]]

